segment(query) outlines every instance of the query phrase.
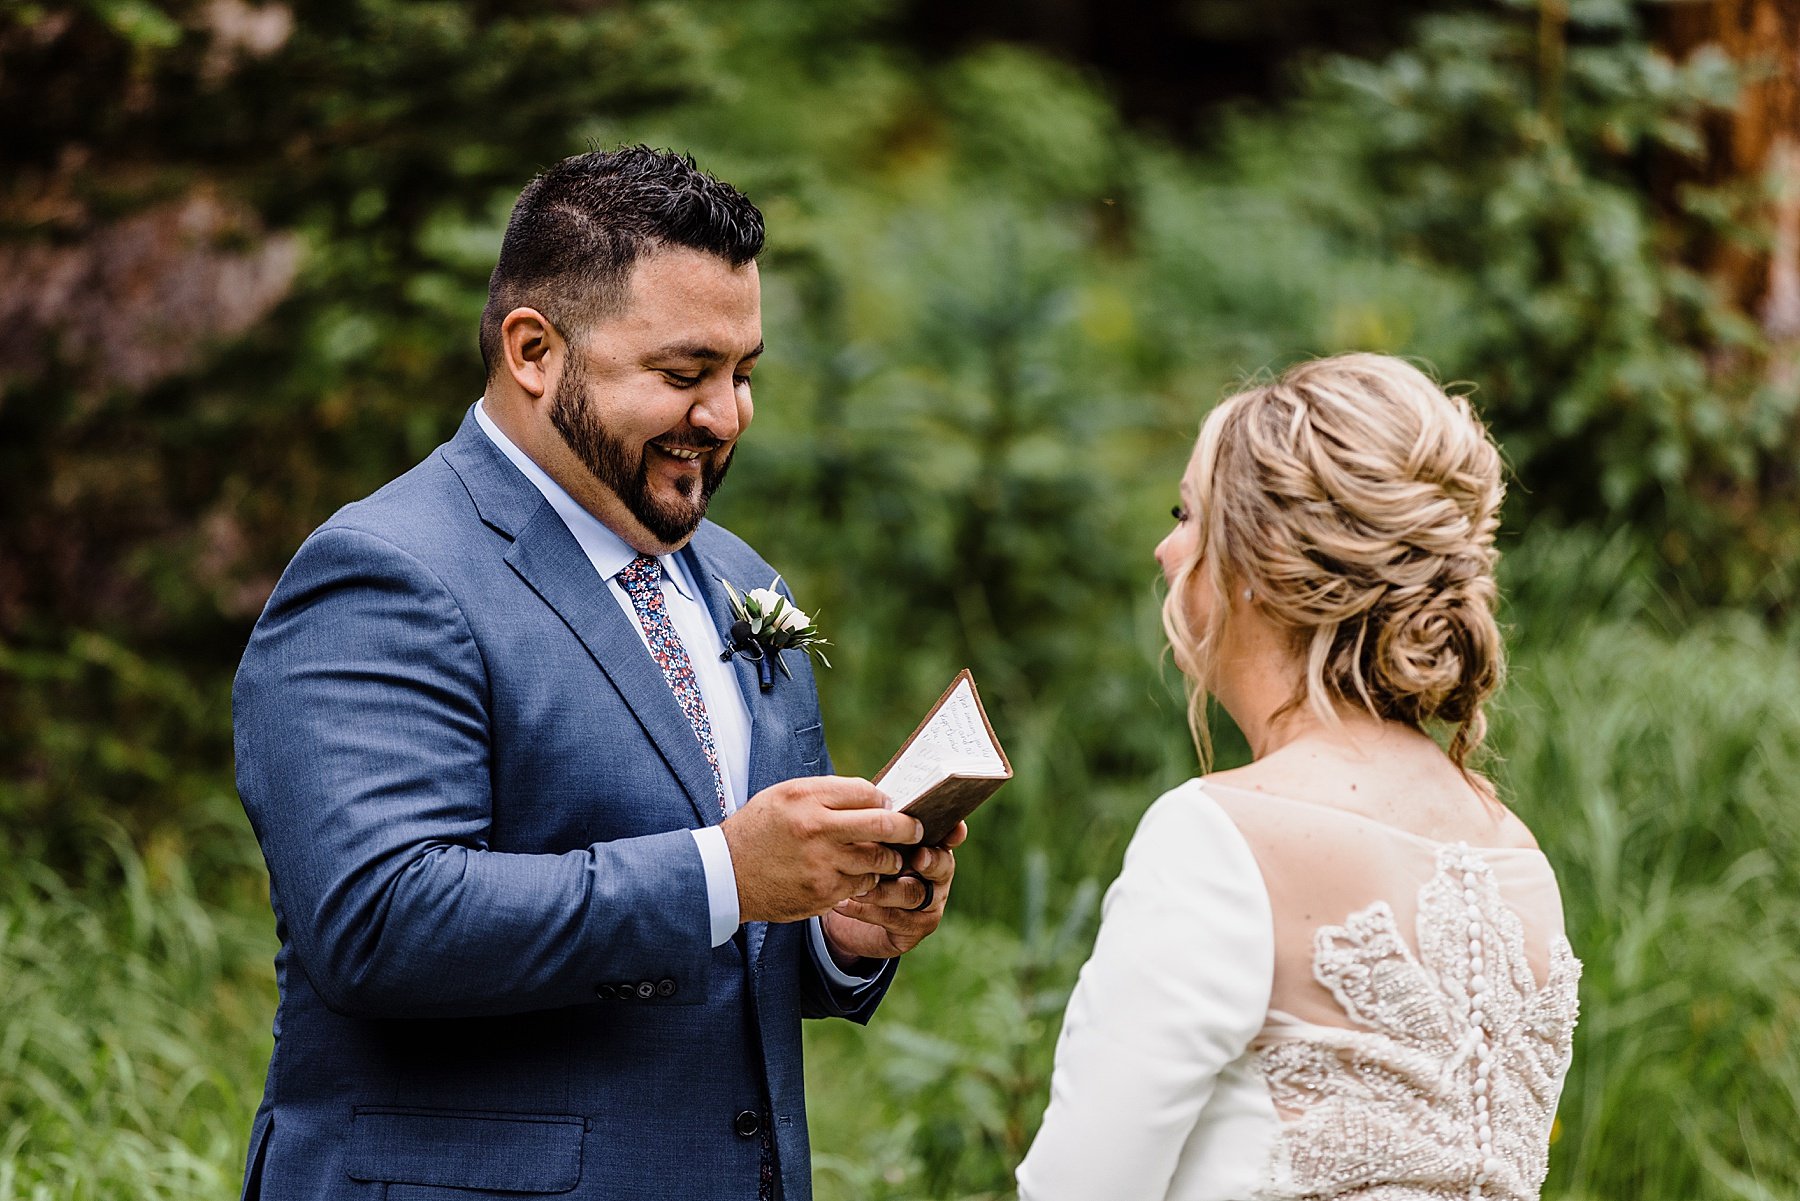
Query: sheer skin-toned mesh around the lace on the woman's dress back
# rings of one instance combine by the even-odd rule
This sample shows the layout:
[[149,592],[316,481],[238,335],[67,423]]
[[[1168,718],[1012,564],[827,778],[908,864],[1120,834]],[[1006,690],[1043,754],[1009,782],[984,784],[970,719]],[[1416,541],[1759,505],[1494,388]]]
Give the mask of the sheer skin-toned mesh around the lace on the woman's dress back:
[[[1321,1026],[1355,1026],[1314,972],[1321,926],[1386,902],[1418,954],[1418,897],[1438,873],[1440,843],[1373,817],[1316,801],[1206,781],[1206,792],[1244,834],[1269,889],[1274,922],[1274,987],[1269,1008]],[[1492,870],[1499,895],[1525,935],[1532,981],[1550,976],[1552,940],[1562,935],[1562,900],[1550,862],[1532,848],[1471,848]]]

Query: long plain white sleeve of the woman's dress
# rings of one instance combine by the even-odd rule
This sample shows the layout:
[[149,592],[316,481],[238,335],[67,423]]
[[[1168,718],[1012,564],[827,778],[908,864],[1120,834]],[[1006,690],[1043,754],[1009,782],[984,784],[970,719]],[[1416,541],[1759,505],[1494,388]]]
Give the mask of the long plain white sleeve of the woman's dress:
[[1021,1201],[1159,1201],[1274,976],[1255,855],[1199,781],[1138,825],[1057,1043]]

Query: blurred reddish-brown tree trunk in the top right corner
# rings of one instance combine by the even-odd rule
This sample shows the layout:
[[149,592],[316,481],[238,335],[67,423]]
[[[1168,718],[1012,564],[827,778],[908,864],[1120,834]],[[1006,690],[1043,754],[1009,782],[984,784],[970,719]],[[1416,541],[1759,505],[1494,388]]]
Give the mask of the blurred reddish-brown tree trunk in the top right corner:
[[1658,41],[1674,59],[1717,45],[1748,81],[1735,112],[1714,119],[1706,157],[1685,182],[1744,194],[1768,239],[1714,238],[1694,261],[1777,348],[1800,344],[1800,4],[1681,0],[1663,9]]

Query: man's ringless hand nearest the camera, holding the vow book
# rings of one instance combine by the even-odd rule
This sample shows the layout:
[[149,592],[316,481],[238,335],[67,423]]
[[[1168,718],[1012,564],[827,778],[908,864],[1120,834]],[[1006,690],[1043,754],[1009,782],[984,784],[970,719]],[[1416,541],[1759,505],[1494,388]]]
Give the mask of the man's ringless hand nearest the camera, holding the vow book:
[[923,826],[886,803],[868,780],[805,776],[763,789],[725,817],[740,920],[810,918],[898,871],[900,852],[882,843],[916,843]]

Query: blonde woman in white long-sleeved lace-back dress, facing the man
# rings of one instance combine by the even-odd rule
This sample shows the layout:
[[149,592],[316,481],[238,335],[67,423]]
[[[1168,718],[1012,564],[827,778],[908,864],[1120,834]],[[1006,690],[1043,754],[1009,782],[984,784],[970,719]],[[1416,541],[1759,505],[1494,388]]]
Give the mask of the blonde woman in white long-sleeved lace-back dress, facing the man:
[[1397,358],[1206,420],[1163,618],[1202,762],[1208,699],[1255,762],[1138,826],[1021,1201],[1537,1197],[1580,965],[1471,762],[1501,492],[1469,403]]

